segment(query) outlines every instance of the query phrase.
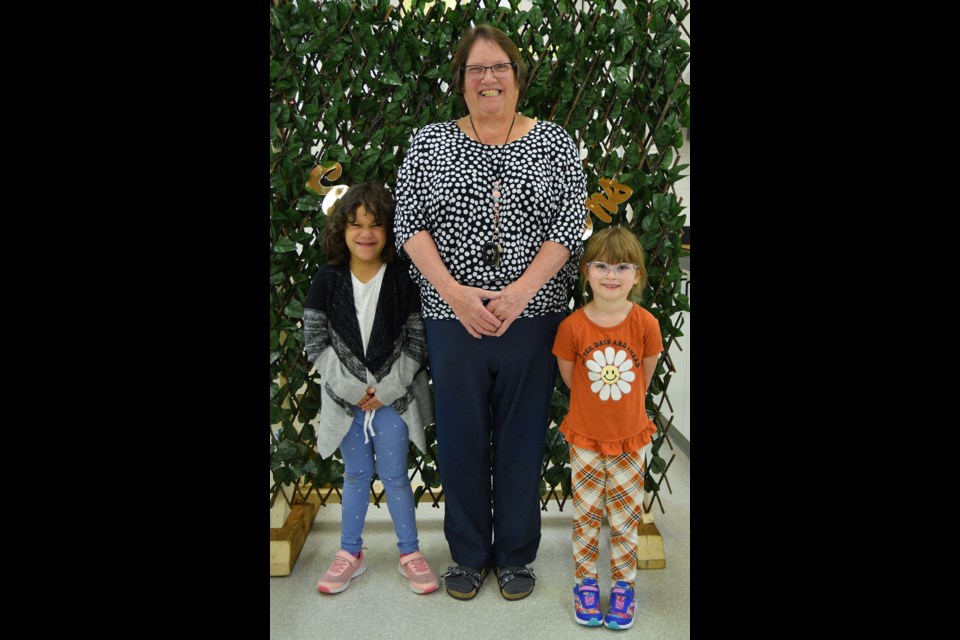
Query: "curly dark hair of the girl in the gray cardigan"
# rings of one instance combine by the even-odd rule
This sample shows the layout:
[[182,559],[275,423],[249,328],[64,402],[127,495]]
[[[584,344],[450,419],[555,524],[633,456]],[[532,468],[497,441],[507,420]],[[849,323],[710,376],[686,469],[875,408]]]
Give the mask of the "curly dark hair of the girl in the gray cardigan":
[[350,261],[350,249],[347,248],[347,225],[357,220],[357,209],[363,205],[387,232],[387,244],[381,257],[387,264],[397,257],[397,248],[393,236],[393,213],[396,202],[393,196],[380,183],[361,182],[344,193],[333,205],[333,211],[327,216],[323,227],[323,251],[330,264],[343,264]]

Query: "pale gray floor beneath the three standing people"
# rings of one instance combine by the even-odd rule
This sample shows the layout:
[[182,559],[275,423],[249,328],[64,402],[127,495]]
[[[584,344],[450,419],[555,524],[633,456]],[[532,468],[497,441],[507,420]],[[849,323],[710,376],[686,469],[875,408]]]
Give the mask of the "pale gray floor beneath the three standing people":
[[[504,600],[489,578],[473,600],[454,600],[443,591],[417,595],[397,572],[396,537],[387,508],[370,506],[364,531],[367,572],[336,595],[319,594],[316,582],[329,566],[340,541],[340,505],[322,507],[293,573],[270,578],[270,637],[273,640],[341,640],[422,638],[584,638],[690,637],[690,459],[676,446],[668,476],[673,493],[661,495],[666,513],[654,506],[663,536],[666,568],[639,571],[637,618],[634,626],[615,632],[582,627],[573,621],[573,558],[570,507],[544,512],[540,552],[531,565],[537,587],[528,598]],[[668,458],[669,459],[669,458]],[[420,549],[437,574],[451,564],[443,537],[443,510],[426,504],[417,508]],[[607,568],[609,531],[604,526],[600,566]],[[607,605],[609,573],[601,572],[602,606]]]

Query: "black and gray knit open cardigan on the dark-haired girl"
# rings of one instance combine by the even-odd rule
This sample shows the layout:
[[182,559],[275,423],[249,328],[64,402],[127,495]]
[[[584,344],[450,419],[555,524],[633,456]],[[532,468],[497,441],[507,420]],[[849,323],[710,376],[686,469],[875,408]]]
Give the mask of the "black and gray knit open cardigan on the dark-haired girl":
[[[407,265],[387,265],[364,352],[347,264],[325,264],[310,284],[303,312],[307,359],[320,374],[323,395],[314,423],[317,451],[326,458],[340,446],[356,405],[376,387],[376,397],[407,424],[408,437],[427,450],[424,426],[433,422],[427,386],[427,345],[420,292]],[[375,383],[367,384],[367,370]]]

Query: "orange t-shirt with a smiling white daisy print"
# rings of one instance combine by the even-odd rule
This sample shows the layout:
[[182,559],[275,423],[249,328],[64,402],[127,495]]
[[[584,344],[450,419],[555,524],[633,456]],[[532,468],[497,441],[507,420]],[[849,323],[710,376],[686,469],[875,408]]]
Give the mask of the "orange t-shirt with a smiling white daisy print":
[[560,425],[567,442],[605,455],[646,446],[657,427],[647,417],[640,361],[661,351],[660,324],[636,303],[614,327],[595,324],[582,308],[567,316],[553,341],[553,354],[574,363]]

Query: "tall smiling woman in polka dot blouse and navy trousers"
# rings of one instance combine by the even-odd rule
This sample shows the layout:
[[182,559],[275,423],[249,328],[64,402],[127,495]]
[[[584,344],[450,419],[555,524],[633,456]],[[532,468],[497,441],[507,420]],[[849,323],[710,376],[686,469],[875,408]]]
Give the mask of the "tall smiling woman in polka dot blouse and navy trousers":
[[423,127],[404,156],[397,249],[423,299],[456,563],[446,591],[469,600],[492,572],[519,600],[536,579],[550,348],[576,280],[586,177],[562,127],[517,113],[527,70],[502,31],[468,29],[451,71],[466,113]]

